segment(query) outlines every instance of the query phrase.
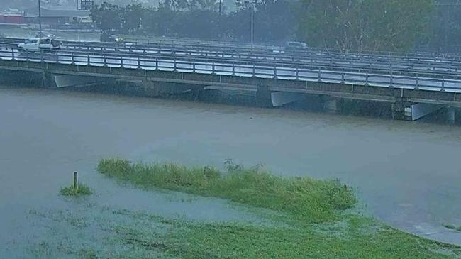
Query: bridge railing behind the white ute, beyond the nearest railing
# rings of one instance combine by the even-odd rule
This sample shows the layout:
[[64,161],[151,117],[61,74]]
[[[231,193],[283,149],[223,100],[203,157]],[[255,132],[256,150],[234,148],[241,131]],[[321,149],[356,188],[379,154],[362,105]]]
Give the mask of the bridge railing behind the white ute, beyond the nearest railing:
[[[19,39],[7,39],[11,44],[16,44]],[[461,70],[460,59],[445,59],[442,57],[399,57],[399,56],[367,56],[345,53],[326,53],[326,52],[300,52],[300,53],[283,53],[264,50],[246,51],[233,48],[213,48],[212,46],[191,46],[183,44],[172,45],[126,45],[113,43],[85,43],[65,41],[65,48],[80,50],[120,50],[130,52],[170,52],[176,55],[206,55],[221,56],[247,59],[265,59],[265,60],[284,60],[293,63],[306,62],[328,62],[328,63],[347,63],[367,65],[369,67],[389,67],[403,70],[433,70],[446,72],[459,72]]]

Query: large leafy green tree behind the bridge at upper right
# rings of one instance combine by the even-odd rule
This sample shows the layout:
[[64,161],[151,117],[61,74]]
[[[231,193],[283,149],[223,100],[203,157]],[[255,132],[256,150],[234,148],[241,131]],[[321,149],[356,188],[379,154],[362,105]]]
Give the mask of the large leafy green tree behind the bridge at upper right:
[[297,35],[343,52],[406,51],[427,37],[432,0],[301,0]]

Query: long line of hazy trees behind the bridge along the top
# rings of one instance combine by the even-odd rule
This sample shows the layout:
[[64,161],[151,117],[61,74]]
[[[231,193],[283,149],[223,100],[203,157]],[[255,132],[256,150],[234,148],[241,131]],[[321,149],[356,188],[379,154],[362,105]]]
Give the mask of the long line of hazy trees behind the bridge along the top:
[[313,48],[362,51],[457,52],[461,1],[451,0],[165,0],[157,7],[104,2],[91,9],[101,31],[137,35],[250,41],[299,40]]

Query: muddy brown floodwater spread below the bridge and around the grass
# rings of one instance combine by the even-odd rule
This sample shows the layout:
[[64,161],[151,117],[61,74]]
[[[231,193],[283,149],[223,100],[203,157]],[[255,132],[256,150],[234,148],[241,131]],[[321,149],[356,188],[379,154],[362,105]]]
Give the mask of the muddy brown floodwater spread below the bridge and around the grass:
[[16,248],[43,235],[28,211],[79,206],[57,195],[74,170],[97,187],[91,199],[99,204],[258,220],[219,199],[182,202],[165,192],[118,187],[95,171],[108,156],[218,167],[233,158],[262,162],[281,175],[339,178],[357,189],[366,213],[461,244],[460,232],[443,227],[461,225],[460,155],[460,126],[0,87],[0,253],[21,257]]

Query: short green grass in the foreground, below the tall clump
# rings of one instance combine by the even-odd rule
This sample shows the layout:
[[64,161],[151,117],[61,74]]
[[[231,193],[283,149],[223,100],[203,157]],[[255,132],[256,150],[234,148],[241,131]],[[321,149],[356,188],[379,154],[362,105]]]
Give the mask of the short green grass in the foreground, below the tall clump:
[[[204,224],[131,214],[133,221],[170,225],[167,236],[155,230],[117,226],[113,231],[135,251],[160,251],[167,258],[455,258],[461,250],[410,235],[362,216],[340,224],[289,226]],[[322,226],[322,227],[321,227]],[[131,252],[128,252],[128,254]],[[141,253],[142,254],[142,253]]]

